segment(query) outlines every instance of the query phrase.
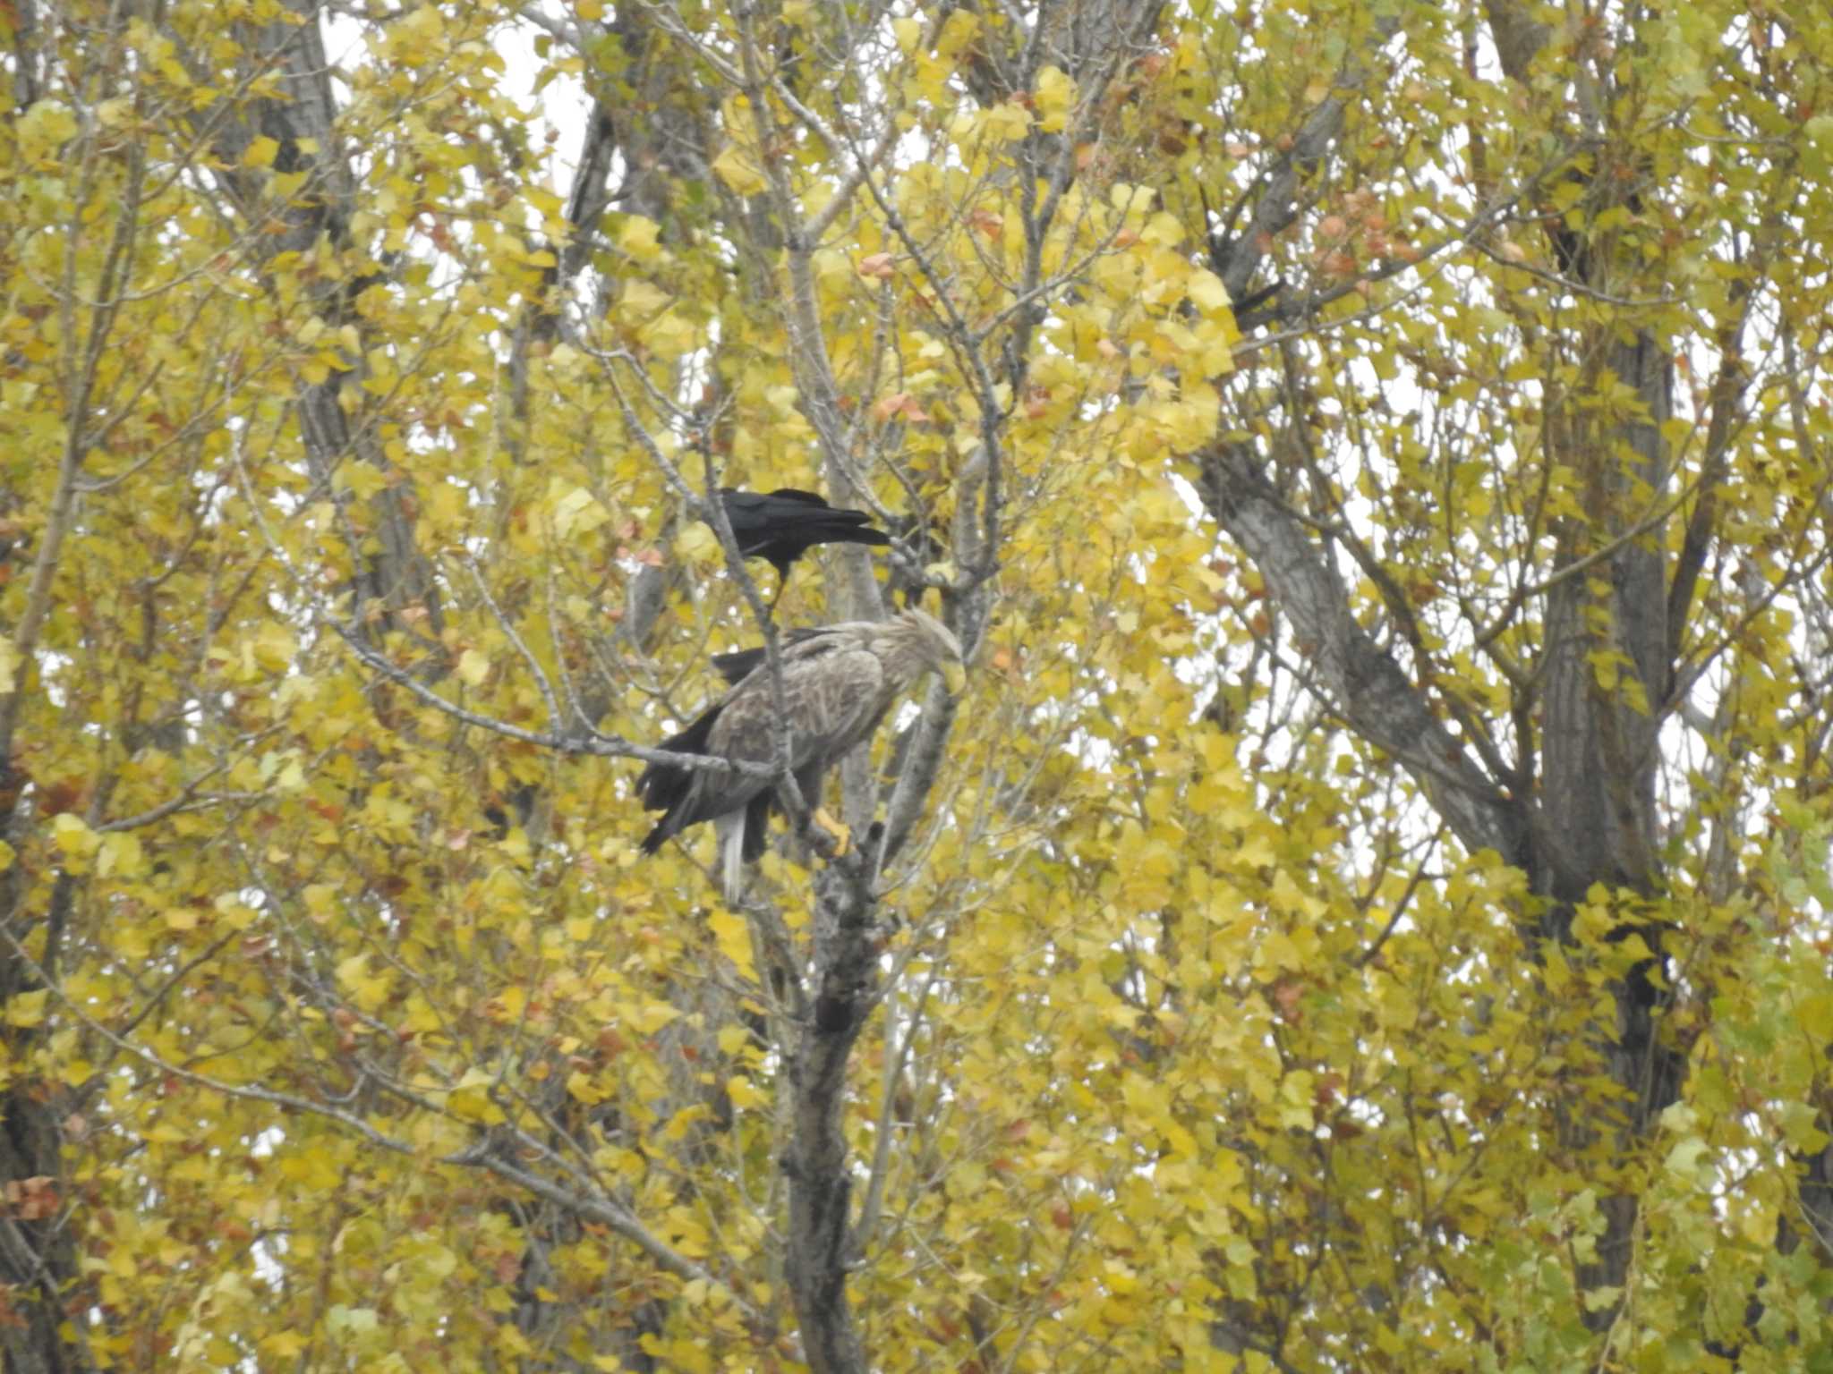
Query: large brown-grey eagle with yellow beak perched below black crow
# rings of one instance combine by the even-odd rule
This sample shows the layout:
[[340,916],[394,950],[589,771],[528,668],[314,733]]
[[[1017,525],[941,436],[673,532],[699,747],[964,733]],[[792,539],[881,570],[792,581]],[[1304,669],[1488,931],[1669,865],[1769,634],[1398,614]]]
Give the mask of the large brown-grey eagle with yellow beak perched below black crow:
[[[869,740],[891,703],[924,672],[960,663],[960,643],[920,610],[885,621],[843,621],[797,630],[783,645],[783,707],[788,714],[790,771],[803,801],[818,806],[821,779],[854,746]],[[768,663],[739,683],[660,749],[744,764],[775,760],[775,687]],[[768,779],[702,768],[649,764],[636,779],[643,808],[664,812],[643,837],[654,854],[669,835],[713,821],[720,837],[720,881],[739,890],[741,863],[764,852],[764,823],[775,802]]]

